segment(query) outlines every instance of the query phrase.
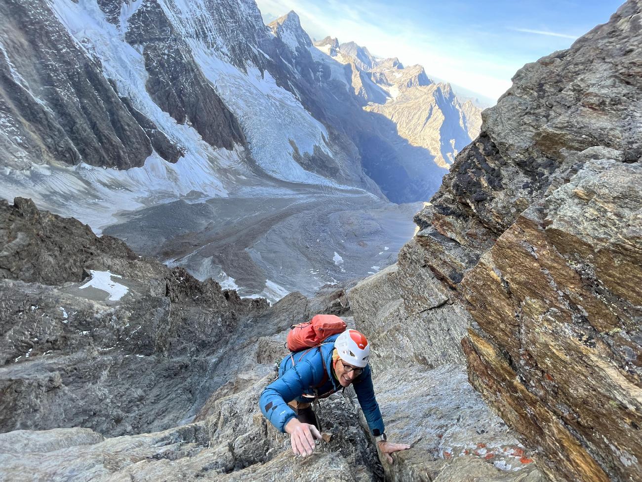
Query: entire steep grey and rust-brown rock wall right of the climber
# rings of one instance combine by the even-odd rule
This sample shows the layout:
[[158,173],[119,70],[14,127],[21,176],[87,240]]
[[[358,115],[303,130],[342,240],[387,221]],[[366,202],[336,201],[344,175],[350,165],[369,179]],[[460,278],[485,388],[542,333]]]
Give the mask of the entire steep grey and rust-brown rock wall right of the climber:
[[551,480],[642,477],[641,19],[518,71],[397,265],[349,292],[386,363],[465,357]]

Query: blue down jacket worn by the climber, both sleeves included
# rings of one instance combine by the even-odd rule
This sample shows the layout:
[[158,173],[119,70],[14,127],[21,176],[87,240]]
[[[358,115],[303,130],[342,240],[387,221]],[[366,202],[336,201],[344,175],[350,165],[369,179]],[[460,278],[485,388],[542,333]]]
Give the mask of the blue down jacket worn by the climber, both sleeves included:
[[[317,393],[323,395],[329,391],[342,388],[332,374],[332,353],[336,337],[338,335],[327,337],[324,344],[319,348],[309,350],[308,353],[293,353],[294,368],[292,368],[292,358],[289,355],[285,357],[279,366],[279,378],[266,386],[263,393],[261,393],[261,398],[259,398],[261,412],[281,432],[285,431],[285,425],[295,416],[294,411],[288,406],[288,402],[295,399],[297,402],[309,402],[309,398],[303,398],[301,395],[304,393],[313,395],[313,387],[322,382],[324,370],[321,357],[325,360],[328,380],[323,386],[317,388]],[[374,435],[382,434],[383,419],[381,418],[377,400],[374,398],[370,366],[366,366],[363,373],[354,379],[352,386],[354,386],[357,400],[359,400],[370,431]]]

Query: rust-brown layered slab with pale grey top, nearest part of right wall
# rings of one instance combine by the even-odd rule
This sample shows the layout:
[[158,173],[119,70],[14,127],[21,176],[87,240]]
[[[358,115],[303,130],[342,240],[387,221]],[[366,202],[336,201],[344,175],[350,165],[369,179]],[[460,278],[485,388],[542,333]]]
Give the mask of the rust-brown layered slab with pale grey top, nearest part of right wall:
[[464,340],[471,381],[551,477],[642,475],[641,182],[639,164],[585,163],[462,281],[477,321]]

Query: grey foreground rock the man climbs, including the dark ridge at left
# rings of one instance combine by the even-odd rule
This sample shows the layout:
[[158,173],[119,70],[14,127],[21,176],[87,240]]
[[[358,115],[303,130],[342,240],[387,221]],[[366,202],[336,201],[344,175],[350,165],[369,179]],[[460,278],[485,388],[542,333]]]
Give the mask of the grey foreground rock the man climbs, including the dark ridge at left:
[[[268,307],[26,199],[0,204],[0,226],[0,478],[383,478],[350,390],[321,404],[327,440],[302,460],[257,406],[292,323],[319,312],[352,323],[344,289],[293,293]],[[82,285],[87,272],[105,270],[127,287],[119,299],[105,285]],[[400,374],[401,390],[390,380]],[[523,448],[464,376],[446,367],[417,377],[404,366],[377,376],[390,433],[417,446],[403,460],[445,481],[539,481],[532,467],[507,470]],[[418,393],[421,402],[408,406]],[[455,452],[462,458],[451,467]],[[395,467],[396,480],[417,479],[408,465]]]

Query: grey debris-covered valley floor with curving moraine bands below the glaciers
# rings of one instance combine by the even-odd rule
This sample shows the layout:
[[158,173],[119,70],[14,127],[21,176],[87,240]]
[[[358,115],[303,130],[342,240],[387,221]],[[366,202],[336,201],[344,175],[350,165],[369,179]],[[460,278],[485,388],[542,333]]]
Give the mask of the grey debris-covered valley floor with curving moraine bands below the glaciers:
[[358,280],[396,261],[423,203],[392,204],[363,190],[273,181],[229,197],[124,213],[103,229],[135,251],[270,302]]

